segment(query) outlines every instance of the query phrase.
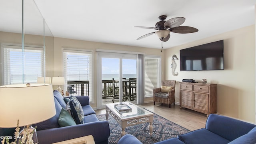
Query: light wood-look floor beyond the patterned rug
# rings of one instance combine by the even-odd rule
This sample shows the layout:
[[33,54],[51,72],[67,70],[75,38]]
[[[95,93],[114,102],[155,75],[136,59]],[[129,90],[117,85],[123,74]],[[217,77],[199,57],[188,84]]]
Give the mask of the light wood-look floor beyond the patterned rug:
[[[141,104],[139,105],[142,108],[146,108],[147,110],[162,116],[171,122],[174,122],[188,130],[197,130],[205,127],[206,123],[206,114],[202,114],[199,112],[195,112],[189,109],[180,109],[179,105],[171,105],[171,108],[168,105],[161,103],[156,103],[156,105],[152,103]],[[106,114],[105,109],[95,110],[96,115]]]

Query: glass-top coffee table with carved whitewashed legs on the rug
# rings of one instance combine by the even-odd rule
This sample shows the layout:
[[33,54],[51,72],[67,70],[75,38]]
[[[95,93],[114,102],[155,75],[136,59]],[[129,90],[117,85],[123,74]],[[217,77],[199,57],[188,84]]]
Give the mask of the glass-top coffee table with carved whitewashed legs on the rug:
[[121,126],[121,136],[126,134],[125,128],[136,124],[149,122],[148,130],[149,135],[152,136],[153,132],[153,113],[140,108],[131,102],[116,102],[106,104],[106,120],[108,115],[111,115]]

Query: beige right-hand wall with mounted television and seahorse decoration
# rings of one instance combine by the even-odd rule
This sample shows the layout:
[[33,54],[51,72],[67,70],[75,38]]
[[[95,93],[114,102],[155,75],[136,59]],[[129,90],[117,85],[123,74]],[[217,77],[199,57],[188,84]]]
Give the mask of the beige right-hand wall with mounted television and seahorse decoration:
[[[184,78],[217,85],[217,113],[255,122],[255,30],[254,25],[219,34],[165,50],[166,79],[176,80],[175,100],[179,102],[179,82]],[[176,60],[178,76],[170,68],[172,55],[180,58],[180,49],[224,40],[224,70],[180,71]]]

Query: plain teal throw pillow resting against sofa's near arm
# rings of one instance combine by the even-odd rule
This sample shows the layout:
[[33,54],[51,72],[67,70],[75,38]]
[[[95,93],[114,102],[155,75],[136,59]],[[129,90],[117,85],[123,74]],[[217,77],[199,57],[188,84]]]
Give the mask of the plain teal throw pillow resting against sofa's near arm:
[[58,119],[58,124],[61,127],[64,127],[64,126],[76,125],[76,122],[74,121],[72,116],[68,113],[68,111],[65,110],[64,108],[62,108],[61,111],[60,111],[60,116],[59,116],[59,119]]

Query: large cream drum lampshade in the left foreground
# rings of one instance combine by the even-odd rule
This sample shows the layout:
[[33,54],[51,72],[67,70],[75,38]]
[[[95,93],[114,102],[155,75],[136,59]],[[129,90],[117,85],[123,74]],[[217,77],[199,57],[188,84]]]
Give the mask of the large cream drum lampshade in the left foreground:
[[51,84],[0,86],[0,128],[36,124],[56,114]]

